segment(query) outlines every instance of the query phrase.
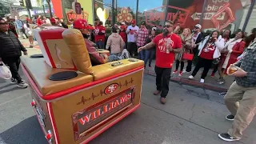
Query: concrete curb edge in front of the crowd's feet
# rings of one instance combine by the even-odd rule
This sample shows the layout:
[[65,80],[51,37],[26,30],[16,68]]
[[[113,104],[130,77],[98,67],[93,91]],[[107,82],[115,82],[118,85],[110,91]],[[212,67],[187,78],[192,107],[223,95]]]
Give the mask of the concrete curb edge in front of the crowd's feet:
[[[152,75],[154,77],[156,76],[156,74],[152,70],[144,70],[144,74],[149,74],[149,75]],[[217,92],[223,92],[223,91],[227,90],[226,88],[223,88],[223,87],[220,87],[220,86],[214,86],[214,85],[211,85],[209,83],[200,83],[198,81],[190,80],[188,78],[171,77],[170,82],[175,82],[175,83],[178,83],[180,85],[188,85],[188,86],[199,87],[199,88],[202,88],[202,89],[213,90],[213,91],[217,91]]]

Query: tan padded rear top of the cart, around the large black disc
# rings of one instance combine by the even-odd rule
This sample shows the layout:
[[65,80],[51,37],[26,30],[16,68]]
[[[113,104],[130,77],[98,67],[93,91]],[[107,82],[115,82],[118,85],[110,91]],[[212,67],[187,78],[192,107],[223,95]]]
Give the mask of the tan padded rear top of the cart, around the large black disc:
[[62,90],[70,89],[74,86],[93,82],[92,75],[83,73],[78,73],[78,77],[66,81],[50,81],[49,77],[51,74],[66,70],[51,68],[46,64],[44,58],[29,58],[27,56],[23,56],[21,60],[42,95],[54,94]]

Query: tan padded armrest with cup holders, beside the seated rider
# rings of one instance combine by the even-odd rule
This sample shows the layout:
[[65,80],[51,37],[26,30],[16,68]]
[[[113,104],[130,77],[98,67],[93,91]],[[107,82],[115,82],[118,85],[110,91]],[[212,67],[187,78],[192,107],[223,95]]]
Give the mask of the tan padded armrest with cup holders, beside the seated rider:
[[130,62],[128,59],[123,59],[116,62],[122,62],[122,65],[111,66],[111,64],[114,62],[108,62],[102,65],[93,66],[92,70],[94,71],[94,81],[113,76],[114,74],[120,74],[139,66],[144,66],[144,62],[141,60],[138,60],[138,62]]

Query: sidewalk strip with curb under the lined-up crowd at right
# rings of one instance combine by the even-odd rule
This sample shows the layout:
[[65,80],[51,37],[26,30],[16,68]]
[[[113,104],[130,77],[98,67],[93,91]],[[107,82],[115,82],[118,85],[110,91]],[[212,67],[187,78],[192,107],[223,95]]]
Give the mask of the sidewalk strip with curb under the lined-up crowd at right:
[[[153,60],[152,63],[151,63],[151,67],[149,67],[147,65],[144,73],[155,76],[156,74],[154,72],[154,65],[155,65],[155,61]],[[186,69],[186,64],[185,64],[184,68]],[[172,72],[174,72],[174,70],[175,70],[175,63],[173,65]],[[194,70],[194,66],[192,66],[192,71],[193,70]],[[205,83],[200,83],[199,81],[200,81],[200,78],[201,78],[202,70],[203,70],[203,68],[201,68],[198,71],[198,74],[194,77],[193,80],[190,80],[188,78],[190,76],[190,74],[192,73],[192,71],[191,71],[190,74],[182,74],[182,77],[179,77],[178,74],[171,74],[170,81],[171,82],[177,82],[179,84],[185,84],[185,85],[189,85],[189,86],[200,87],[200,88],[207,89],[207,90],[214,90],[214,91],[218,91],[218,92],[228,90],[230,85],[232,84],[232,82],[234,82],[234,77],[230,77],[230,76],[226,75],[224,77],[226,83],[222,84],[222,85],[218,84],[218,82],[217,82],[217,80],[219,78],[218,71],[215,73],[214,78],[212,78],[212,77],[210,77],[210,74],[213,71],[211,69],[208,72],[208,75],[205,79]]]

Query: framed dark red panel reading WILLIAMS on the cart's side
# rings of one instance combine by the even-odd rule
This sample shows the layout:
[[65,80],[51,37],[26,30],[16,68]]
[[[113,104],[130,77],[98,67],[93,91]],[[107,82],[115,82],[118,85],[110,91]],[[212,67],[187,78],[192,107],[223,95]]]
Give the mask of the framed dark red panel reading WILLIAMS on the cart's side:
[[90,106],[72,115],[74,140],[85,137],[93,130],[115,118],[134,105],[135,87],[132,86],[97,105]]

